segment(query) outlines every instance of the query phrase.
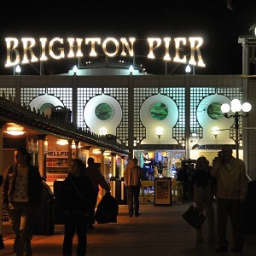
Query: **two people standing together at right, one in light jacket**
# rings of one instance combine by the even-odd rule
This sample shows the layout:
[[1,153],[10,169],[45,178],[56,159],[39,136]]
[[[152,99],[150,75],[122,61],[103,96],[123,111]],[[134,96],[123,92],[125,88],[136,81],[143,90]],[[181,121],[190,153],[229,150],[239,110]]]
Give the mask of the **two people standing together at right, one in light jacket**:
[[[192,177],[195,207],[207,216],[207,241],[216,240],[213,196],[217,199],[217,238],[216,252],[227,252],[227,224],[233,234],[232,252],[242,252],[244,236],[242,227],[242,207],[247,198],[247,175],[245,163],[232,156],[231,145],[224,145],[213,160],[212,166],[206,157],[196,160]],[[196,241],[204,241],[202,227],[196,230]]]

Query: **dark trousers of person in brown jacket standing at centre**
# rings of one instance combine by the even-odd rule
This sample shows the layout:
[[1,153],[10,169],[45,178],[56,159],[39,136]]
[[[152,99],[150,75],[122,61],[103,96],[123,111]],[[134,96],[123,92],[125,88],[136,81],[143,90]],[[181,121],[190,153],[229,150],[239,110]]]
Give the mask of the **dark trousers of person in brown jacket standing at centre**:
[[127,186],[126,194],[127,201],[129,207],[129,216],[132,216],[133,210],[135,215],[139,214],[139,195],[140,195],[140,187],[139,186]]

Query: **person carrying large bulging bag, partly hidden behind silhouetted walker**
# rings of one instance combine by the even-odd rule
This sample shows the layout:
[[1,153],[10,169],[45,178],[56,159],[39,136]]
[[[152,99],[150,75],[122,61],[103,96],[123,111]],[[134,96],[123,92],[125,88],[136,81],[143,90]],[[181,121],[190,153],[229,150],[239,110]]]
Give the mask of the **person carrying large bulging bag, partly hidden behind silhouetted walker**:
[[108,187],[108,183],[105,180],[105,177],[102,175],[102,172],[96,168],[96,166],[94,164],[94,159],[92,157],[88,158],[87,165],[88,165],[88,167],[85,168],[84,173],[85,173],[86,177],[90,178],[90,182],[94,189],[93,205],[91,208],[91,217],[88,222],[88,227],[92,228],[93,224],[95,224],[95,208],[96,208],[98,193],[100,190],[99,185],[102,187],[102,189],[107,190],[107,193],[110,193],[110,189]]

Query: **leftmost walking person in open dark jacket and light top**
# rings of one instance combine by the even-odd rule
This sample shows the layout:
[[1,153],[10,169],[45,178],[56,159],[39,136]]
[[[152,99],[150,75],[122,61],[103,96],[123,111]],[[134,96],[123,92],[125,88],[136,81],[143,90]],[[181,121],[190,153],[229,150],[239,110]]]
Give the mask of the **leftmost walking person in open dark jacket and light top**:
[[42,178],[26,148],[15,149],[15,165],[3,174],[3,208],[14,234],[14,255],[32,255],[32,224],[42,199]]

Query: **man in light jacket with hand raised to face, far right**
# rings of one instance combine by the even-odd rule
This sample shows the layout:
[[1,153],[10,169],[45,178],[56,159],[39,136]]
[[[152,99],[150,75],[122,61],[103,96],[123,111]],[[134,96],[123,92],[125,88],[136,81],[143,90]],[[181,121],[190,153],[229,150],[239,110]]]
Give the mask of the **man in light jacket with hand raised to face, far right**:
[[241,226],[241,205],[247,197],[246,167],[242,160],[232,156],[231,145],[224,145],[213,161],[211,170],[217,178],[217,221],[218,243],[217,252],[228,250],[227,222],[233,230],[235,246],[232,252],[241,252],[244,245],[244,236]]

